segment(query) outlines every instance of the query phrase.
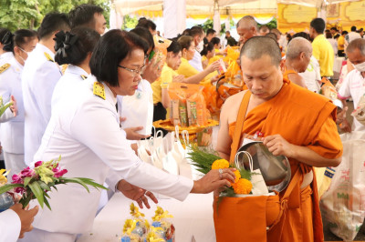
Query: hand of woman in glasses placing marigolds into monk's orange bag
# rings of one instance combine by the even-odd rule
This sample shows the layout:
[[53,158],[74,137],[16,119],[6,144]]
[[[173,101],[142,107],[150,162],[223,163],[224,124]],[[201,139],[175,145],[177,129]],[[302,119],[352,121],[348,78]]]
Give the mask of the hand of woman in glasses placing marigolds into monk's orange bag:
[[235,168],[214,169],[199,180],[194,181],[191,193],[210,193],[235,182]]

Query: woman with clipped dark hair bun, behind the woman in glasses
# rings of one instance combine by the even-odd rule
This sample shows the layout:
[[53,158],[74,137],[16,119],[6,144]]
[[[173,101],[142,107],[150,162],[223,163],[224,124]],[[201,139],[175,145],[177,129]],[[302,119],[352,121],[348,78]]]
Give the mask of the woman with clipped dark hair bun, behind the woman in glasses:
[[56,34],[55,61],[59,66],[67,65],[67,69],[53,91],[52,112],[57,110],[57,103],[62,97],[68,98],[70,89],[89,76],[89,61],[99,38],[98,32],[87,27],[76,27],[70,32]]

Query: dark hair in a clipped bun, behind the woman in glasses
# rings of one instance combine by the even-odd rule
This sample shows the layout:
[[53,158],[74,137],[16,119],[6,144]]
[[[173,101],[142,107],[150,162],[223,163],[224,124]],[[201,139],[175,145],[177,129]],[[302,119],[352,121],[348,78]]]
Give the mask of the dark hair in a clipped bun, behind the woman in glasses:
[[[70,43],[70,38],[76,38]],[[66,34],[61,31],[56,35],[55,61],[58,65],[80,64],[87,55],[94,51],[100,35],[89,27],[76,27]]]

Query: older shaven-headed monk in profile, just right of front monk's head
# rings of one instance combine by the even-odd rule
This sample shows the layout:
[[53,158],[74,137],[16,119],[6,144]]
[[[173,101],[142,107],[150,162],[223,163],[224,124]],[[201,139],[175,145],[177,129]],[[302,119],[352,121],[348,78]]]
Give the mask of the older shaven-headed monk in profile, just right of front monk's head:
[[289,45],[287,45],[284,78],[289,79],[290,82],[298,86],[307,88],[306,81],[298,73],[303,73],[307,70],[310,56],[312,56],[312,45],[310,42],[302,37],[293,38]]

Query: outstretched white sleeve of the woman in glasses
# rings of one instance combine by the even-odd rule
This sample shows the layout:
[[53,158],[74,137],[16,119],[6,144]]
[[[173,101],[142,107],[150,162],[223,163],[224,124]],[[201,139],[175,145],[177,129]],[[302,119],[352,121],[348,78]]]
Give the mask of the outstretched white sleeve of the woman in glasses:
[[178,200],[185,199],[193,188],[193,180],[173,176],[142,162],[123,136],[117,118],[102,104],[82,106],[71,123],[71,136],[88,146],[130,184]]

